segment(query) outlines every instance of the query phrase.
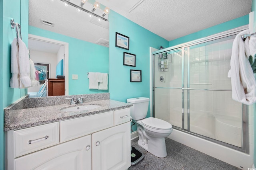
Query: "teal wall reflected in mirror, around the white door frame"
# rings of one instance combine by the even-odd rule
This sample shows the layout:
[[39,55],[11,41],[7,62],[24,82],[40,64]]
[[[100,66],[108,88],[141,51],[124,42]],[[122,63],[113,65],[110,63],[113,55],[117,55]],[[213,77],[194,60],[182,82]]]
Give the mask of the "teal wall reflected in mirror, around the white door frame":
[[[69,95],[108,92],[108,90],[89,89],[86,74],[87,72],[108,73],[108,47],[32,26],[28,26],[28,33],[68,43]],[[72,74],[78,74],[78,80],[72,80]]]

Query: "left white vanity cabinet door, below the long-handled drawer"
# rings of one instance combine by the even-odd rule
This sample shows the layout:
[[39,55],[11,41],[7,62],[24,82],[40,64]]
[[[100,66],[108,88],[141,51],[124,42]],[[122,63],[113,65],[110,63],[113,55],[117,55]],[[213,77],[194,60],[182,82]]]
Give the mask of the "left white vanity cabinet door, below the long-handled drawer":
[[87,135],[16,158],[14,170],[91,170],[91,146],[91,135]]

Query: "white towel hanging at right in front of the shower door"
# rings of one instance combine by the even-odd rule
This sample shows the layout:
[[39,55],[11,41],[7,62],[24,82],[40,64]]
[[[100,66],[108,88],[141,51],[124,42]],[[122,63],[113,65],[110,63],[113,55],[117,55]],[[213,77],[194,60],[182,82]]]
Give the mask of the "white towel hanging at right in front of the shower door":
[[[248,42],[244,43],[241,38],[244,34],[249,34],[249,30],[238,33],[234,39],[228,77],[231,77],[233,100],[243,104],[254,104],[256,102],[256,80],[245,55],[245,44],[246,51],[248,51]],[[249,39],[246,38],[246,41]]]

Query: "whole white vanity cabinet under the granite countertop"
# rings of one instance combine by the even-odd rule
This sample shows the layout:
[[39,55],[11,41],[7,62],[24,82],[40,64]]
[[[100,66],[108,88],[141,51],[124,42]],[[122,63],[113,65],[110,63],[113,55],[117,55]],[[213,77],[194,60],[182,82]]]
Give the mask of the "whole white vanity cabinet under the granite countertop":
[[[52,133],[37,139],[35,129],[41,129],[40,135],[44,129]],[[14,140],[16,134],[35,139],[34,145],[28,138]],[[6,170],[125,170],[131,163],[130,107],[7,131],[6,143]],[[17,152],[22,145],[32,149]]]

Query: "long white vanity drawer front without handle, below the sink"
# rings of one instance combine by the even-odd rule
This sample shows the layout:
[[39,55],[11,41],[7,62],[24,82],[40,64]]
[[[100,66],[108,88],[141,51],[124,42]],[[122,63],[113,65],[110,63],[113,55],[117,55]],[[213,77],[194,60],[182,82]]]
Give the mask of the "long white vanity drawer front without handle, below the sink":
[[114,126],[114,111],[60,121],[60,142]]

